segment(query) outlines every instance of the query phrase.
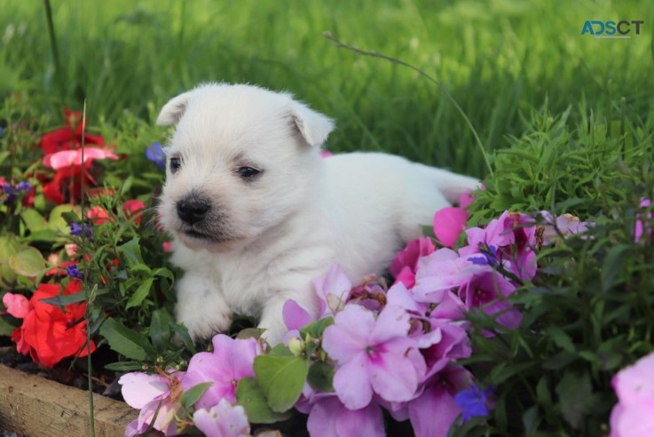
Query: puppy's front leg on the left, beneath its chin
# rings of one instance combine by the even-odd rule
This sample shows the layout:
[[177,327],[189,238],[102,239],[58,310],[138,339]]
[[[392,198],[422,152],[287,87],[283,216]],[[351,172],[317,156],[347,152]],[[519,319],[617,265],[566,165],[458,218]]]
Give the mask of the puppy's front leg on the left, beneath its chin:
[[201,274],[186,273],[177,282],[177,322],[184,323],[193,340],[211,338],[229,330],[232,317],[215,282]]

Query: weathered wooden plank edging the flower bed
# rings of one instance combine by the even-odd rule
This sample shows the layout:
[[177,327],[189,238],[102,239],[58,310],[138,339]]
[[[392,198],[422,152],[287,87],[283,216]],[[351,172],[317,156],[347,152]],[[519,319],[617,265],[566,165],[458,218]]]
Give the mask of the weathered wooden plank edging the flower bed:
[[[93,394],[97,437],[122,436],[138,411]],[[0,428],[30,437],[91,435],[89,393],[0,364]]]

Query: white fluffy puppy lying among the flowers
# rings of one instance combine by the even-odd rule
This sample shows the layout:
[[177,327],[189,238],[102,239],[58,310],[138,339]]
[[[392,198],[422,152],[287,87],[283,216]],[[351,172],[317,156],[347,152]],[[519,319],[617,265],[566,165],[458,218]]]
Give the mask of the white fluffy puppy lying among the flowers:
[[311,280],[339,264],[352,281],[382,274],[435,211],[477,179],[379,153],[328,158],[325,115],[250,85],[206,84],[171,99],[177,123],[159,211],[175,237],[177,320],[193,338],[251,314],[272,344],[295,299],[318,315]]

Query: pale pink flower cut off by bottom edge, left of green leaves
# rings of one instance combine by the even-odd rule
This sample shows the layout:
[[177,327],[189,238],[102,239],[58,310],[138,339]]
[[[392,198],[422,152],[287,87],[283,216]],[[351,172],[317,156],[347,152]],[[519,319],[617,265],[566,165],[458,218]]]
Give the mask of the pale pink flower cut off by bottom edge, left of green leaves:
[[195,425],[207,437],[239,437],[248,436],[249,423],[245,409],[240,405],[232,405],[226,399],[221,399],[210,409],[197,409],[193,413]]

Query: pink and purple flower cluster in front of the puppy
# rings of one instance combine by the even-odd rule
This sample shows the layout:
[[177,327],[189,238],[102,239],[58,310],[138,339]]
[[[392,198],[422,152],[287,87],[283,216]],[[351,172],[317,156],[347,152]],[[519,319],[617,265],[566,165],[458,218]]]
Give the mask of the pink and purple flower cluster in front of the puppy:
[[[485,228],[465,230],[467,244],[454,250],[467,218],[461,208],[438,211],[437,242],[427,237],[409,242],[390,266],[395,282],[388,289],[374,276],[353,287],[343,270],[333,266],[313,282],[319,321],[295,301],[286,302],[288,333],[281,354],[331,369],[327,384],[304,380],[295,401],[295,409],[308,415],[311,436],[384,435],[384,410],[398,421],[410,420],[417,436],[445,436],[457,417],[463,423],[489,414],[492,387],[479,388],[459,363],[472,354],[470,336],[515,329],[522,315],[508,297],[536,273],[535,250],[544,243],[542,235],[550,242],[556,235],[583,232],[587,224],[572,216],[547,216],[549,224],[537,226],[530,216],[506,211]],[[478,330],[467,318],[471,312],[494,320],[492,328]],[[323,329],[310,329],[316,326]],[[272,351],[277,356],[279,347],[266,350],[254,338],[220,334],[213,339],[213,351],[194,355],[177,379],[122,377],[126,401],[141,409],[128,434],[145,431],[146,418],[154,417],[157,408],[167,418],[158,417],[154,428],[167,435],[183,432],[189,425],[180,419],[184,402],[165,393],[179,385],[184,396],[203,384],[191,422],[208,435],[247,434],[248,417],[240,409],[237,387],[244,378],[256,377],[257,357]],[[147,402],[133,400],[131,393],[148,393],[146,385],[155,380],[161,385],[155,396]],[[177,411],[177,422],[169,411]],[[216,431],[225,426],[229,433]]]

